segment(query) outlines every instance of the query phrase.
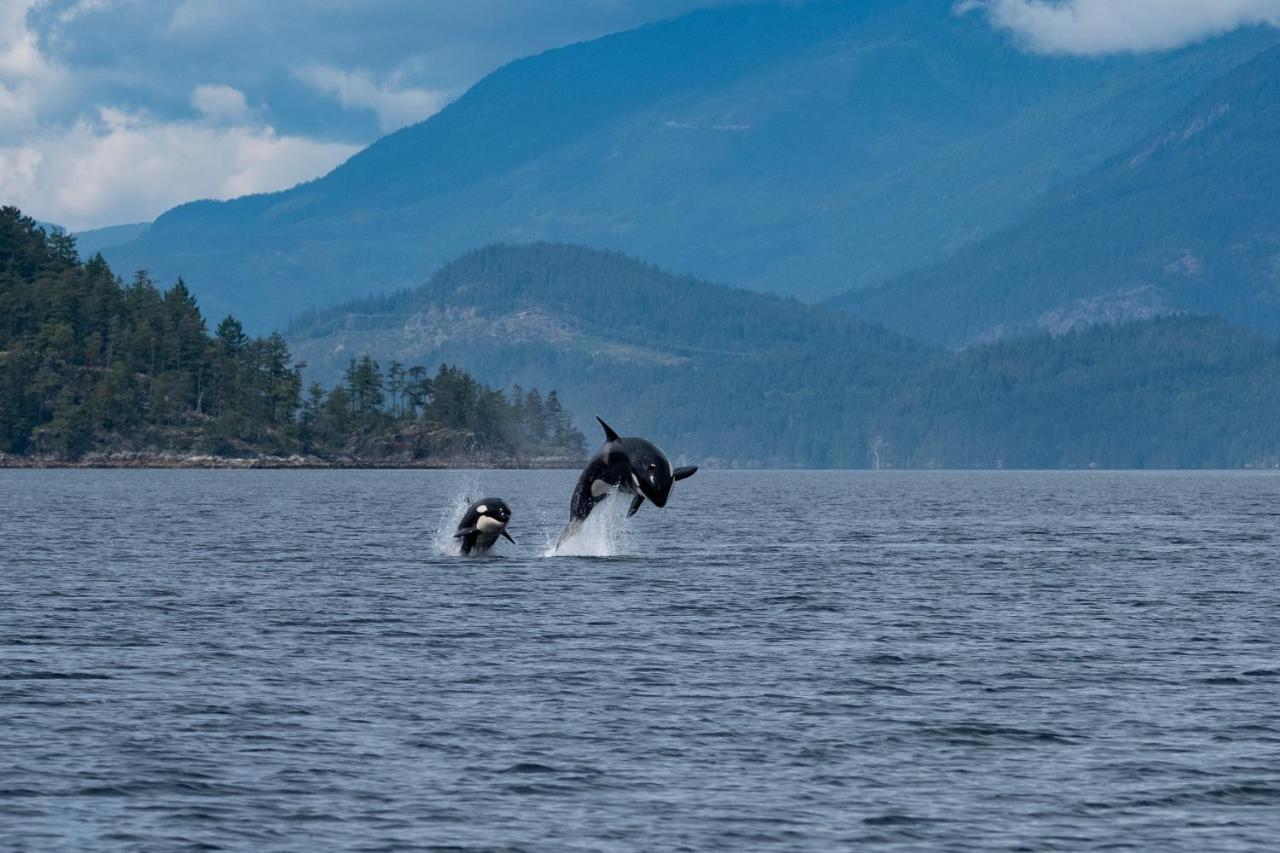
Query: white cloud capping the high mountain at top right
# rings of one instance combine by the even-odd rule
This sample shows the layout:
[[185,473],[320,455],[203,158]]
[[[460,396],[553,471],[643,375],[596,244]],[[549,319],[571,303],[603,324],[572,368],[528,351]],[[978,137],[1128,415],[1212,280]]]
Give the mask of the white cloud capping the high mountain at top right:
[[1280,0],[963,0],[1043,54],[1167,50],[1249,24],[1280,26]]

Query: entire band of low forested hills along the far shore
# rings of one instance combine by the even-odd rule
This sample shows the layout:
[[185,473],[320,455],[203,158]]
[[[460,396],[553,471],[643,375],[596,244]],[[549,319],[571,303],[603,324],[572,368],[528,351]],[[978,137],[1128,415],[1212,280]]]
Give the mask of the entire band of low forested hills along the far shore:
[[[559,389],[680,460],[719,465],[1149,467],[1280,461],[1280,343],[1201,318],[919,347],[795,300],[618,252],[490,246],[422,287],[303,318],[289,346],[332,382],[457,362]],[[680,464],[680,462],[677,462]]]

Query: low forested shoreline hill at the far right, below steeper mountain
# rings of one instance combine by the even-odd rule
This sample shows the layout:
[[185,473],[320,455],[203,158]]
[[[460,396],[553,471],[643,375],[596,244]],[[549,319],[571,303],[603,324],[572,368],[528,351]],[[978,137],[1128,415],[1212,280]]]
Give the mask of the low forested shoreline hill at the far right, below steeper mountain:
[[900,467],[1277,467],[1277,384],[1275,338],[1167,316],[940,356],[872,429]]

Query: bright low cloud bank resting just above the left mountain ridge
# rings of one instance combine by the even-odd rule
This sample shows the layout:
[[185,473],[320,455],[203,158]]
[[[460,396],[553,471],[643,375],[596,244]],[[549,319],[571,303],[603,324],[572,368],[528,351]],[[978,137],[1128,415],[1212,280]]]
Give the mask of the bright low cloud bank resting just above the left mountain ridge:
[[69,131],[0,146],[0,195],[40,219],[92,228],[152,219],[192,199],[283,190],[356,150],[265,126],[164,123],[102,109]]

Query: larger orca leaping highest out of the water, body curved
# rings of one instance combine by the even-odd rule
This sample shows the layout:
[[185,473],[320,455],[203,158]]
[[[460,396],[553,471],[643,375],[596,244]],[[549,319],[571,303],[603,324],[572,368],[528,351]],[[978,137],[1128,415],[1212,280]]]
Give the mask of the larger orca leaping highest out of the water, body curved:
[[586,464],[577,478],[570,501],[570,521],[561,534],[564,542],[582,525],[591,510],[614,492],[631,496],[627,517],[636,514],[645,500],[654,506],[667,506],[671,489],[677,480],[692,476],[696,465],[671,467],[671,460],[657,444],[644,438],[621,437],[603,420],[604,444]]

